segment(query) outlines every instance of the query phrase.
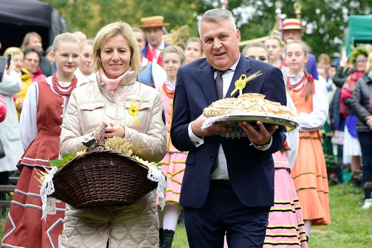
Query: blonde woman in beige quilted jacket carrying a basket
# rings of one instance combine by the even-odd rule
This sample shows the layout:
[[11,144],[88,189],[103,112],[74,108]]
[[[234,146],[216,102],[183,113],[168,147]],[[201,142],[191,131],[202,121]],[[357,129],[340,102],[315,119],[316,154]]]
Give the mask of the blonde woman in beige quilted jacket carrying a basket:
[[[96,82],[76,88],[63,117],[61,154],[84,150],[82,136],[120,136],[140,158],[159,162],[167,152],[164,106],[157,90],[136,81],[140,54],[131,27],[108,24],[93,44]],[[138,112],[129,112],[137,106]],[[156,198],[150,192],[128,206],[74,209],[66,204],[62,247],[159,247]]]

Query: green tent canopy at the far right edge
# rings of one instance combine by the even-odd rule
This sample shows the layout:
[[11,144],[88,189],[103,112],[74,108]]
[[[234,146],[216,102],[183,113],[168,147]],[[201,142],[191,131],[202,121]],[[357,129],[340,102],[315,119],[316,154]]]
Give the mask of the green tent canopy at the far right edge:
[[358,43],[372,44],[372,14],[349,16],[349,33],[345,42],[347,56],[351,52],[351,46]]

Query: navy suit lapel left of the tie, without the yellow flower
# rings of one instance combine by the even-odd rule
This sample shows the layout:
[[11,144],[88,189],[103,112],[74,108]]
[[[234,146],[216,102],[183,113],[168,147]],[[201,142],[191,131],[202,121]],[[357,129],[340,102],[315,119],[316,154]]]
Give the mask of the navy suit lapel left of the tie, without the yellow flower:
[[199,79],[201,89],[208,101],[208,104],[217,101],[216,85],[213,77],[213,67],[207,62],[196,71],[196,76]]

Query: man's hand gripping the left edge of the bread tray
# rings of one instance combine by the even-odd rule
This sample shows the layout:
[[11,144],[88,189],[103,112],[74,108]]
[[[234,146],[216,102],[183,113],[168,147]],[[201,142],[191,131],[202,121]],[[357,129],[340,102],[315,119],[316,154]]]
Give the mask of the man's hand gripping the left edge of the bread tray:
[[201,114],[195,121],[191,123],[191,130],[195,134],[195,136],[201,138],[201,137],[212,136],[220,132],[233,131],[233,126],[230,124],[226,124],[226,123],[218,123],[218,124],[214,123],[211,126],[204,128],[203,131],[201,131],[200,127],[206,119],[207,118],[203,114]]

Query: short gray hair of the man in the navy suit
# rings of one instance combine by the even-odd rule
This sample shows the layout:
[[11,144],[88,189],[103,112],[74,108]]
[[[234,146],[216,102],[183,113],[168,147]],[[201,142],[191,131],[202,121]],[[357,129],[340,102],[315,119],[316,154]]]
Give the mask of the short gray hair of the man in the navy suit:
[[231,23],[234,29],[237,29],[237,25],[235,24],[233,13],[231,13],[231,11],[227,9],[223,9],[223,8],[209,9],[207,12],[205,12],[202,15],[198,15],[196,18],[197,18],[197,28],[199,30],[200,38],[201,38],[200,27],[201,27],[202,22],[204,21],[217,22],[218,24],[221,24],[221,21],[227,20]]

